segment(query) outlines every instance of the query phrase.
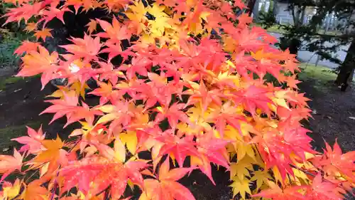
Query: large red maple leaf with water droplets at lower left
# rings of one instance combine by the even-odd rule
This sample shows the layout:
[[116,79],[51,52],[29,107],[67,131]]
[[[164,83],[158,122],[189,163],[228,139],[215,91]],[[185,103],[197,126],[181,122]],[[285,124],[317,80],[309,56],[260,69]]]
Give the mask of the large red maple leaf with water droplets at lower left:
[[78,184],[78,189],[90,197],[111,185],[112,198],[119,199],[126,189],[128,179],[143,188],[140,171],[146,167],[147,164],[143,161],[121,164],[103,157],[87,157],[60,170],[61,176],[65,177],[62,191],[67,191]]

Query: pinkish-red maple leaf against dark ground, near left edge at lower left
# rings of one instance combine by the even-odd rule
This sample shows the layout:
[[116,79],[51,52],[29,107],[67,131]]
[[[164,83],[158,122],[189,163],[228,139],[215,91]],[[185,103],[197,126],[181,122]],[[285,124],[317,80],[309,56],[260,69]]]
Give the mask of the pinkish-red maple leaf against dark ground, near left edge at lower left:
[[41,142],[42,140],[45,139],[45,134],[43,134],[42,131],[42,125],[40,125],[38,131],[33,130],[31,127],[27,127],[27,134],[29,137],[22,136],[22,137],[17,137],[15,139],[12,139],[21,144],[25,144],[21,147],[19,152],[28,151],[30,154],[35,154],[37,152],[40,152],[40,150],[43,149],[43,145]]

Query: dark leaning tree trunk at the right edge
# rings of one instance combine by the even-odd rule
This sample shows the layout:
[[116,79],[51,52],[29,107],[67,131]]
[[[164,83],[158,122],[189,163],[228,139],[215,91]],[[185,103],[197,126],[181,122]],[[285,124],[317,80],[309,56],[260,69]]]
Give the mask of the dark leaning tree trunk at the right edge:
[[355,40],[351,42],[345,60],[340,66],[340,70],[335,83],[338,85],[349,85],[355,69]]

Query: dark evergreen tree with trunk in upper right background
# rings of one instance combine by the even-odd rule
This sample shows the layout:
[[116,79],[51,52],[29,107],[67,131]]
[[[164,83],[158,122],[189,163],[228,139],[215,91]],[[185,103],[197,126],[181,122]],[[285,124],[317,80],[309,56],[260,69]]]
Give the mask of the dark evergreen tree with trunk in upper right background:
[[[285,30],[280,38],[280,48],[290,48],[290,52],[297,53],[300,49],[317,53],[320,59],[327,59],[339,64],[337,68],[338,85],[348,85],[354,74],[354,1],[318,0],[318,1],[276,1],[287,2],[288,11],[293,16],[293,23],[279,25]],[[276,3],[277,4],[277,3]],[[305,23],[305,10],[307,7],[315,9],[315,15]],[[338,20],[346,21],[345,26],[338,26],[337,34],[327,33],[326,29],[320,30],[327,16],[335,14]],[[264,18],[261,23],[265,28],[275,25],[273,19]],[[303,44],[301,45],[301,41]],[[330,43],[330,44],[329,44]],[[346,49],[346,58],[339,60],[336,52],[341,46],[349,45]]]

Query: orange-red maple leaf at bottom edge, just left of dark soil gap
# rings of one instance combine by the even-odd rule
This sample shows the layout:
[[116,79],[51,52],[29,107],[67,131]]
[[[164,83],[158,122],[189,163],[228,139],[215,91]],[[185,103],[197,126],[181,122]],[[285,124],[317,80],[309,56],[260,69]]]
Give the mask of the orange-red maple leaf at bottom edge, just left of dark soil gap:
[[145,190],[139,197],[139,200],[195,200],[191,192],[179,184],[177,181],[191,172],[194,168],[175,168],[170,169],[169,157],[161,164],[158,180],[144,179]]

